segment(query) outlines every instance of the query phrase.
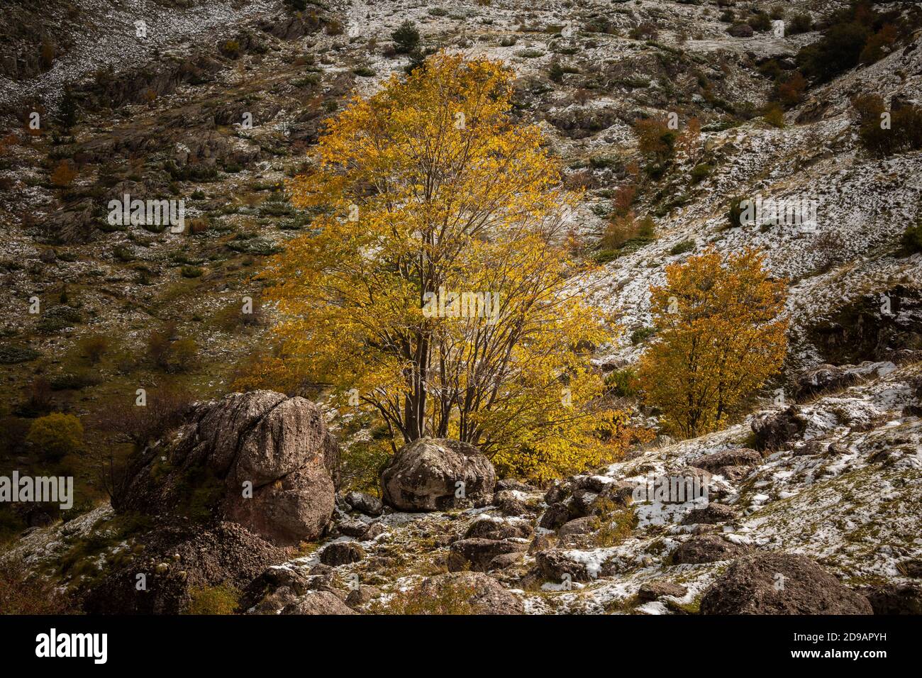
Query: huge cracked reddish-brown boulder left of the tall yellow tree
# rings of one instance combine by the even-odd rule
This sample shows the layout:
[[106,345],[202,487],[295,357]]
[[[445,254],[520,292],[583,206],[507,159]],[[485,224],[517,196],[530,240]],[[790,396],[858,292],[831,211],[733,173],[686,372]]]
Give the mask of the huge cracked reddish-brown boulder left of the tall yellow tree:
[[224,518],[280,546],[320,536],[333,513],[336,442],[320,410],[272,391],[198,405],[129,470],[124,510]]

